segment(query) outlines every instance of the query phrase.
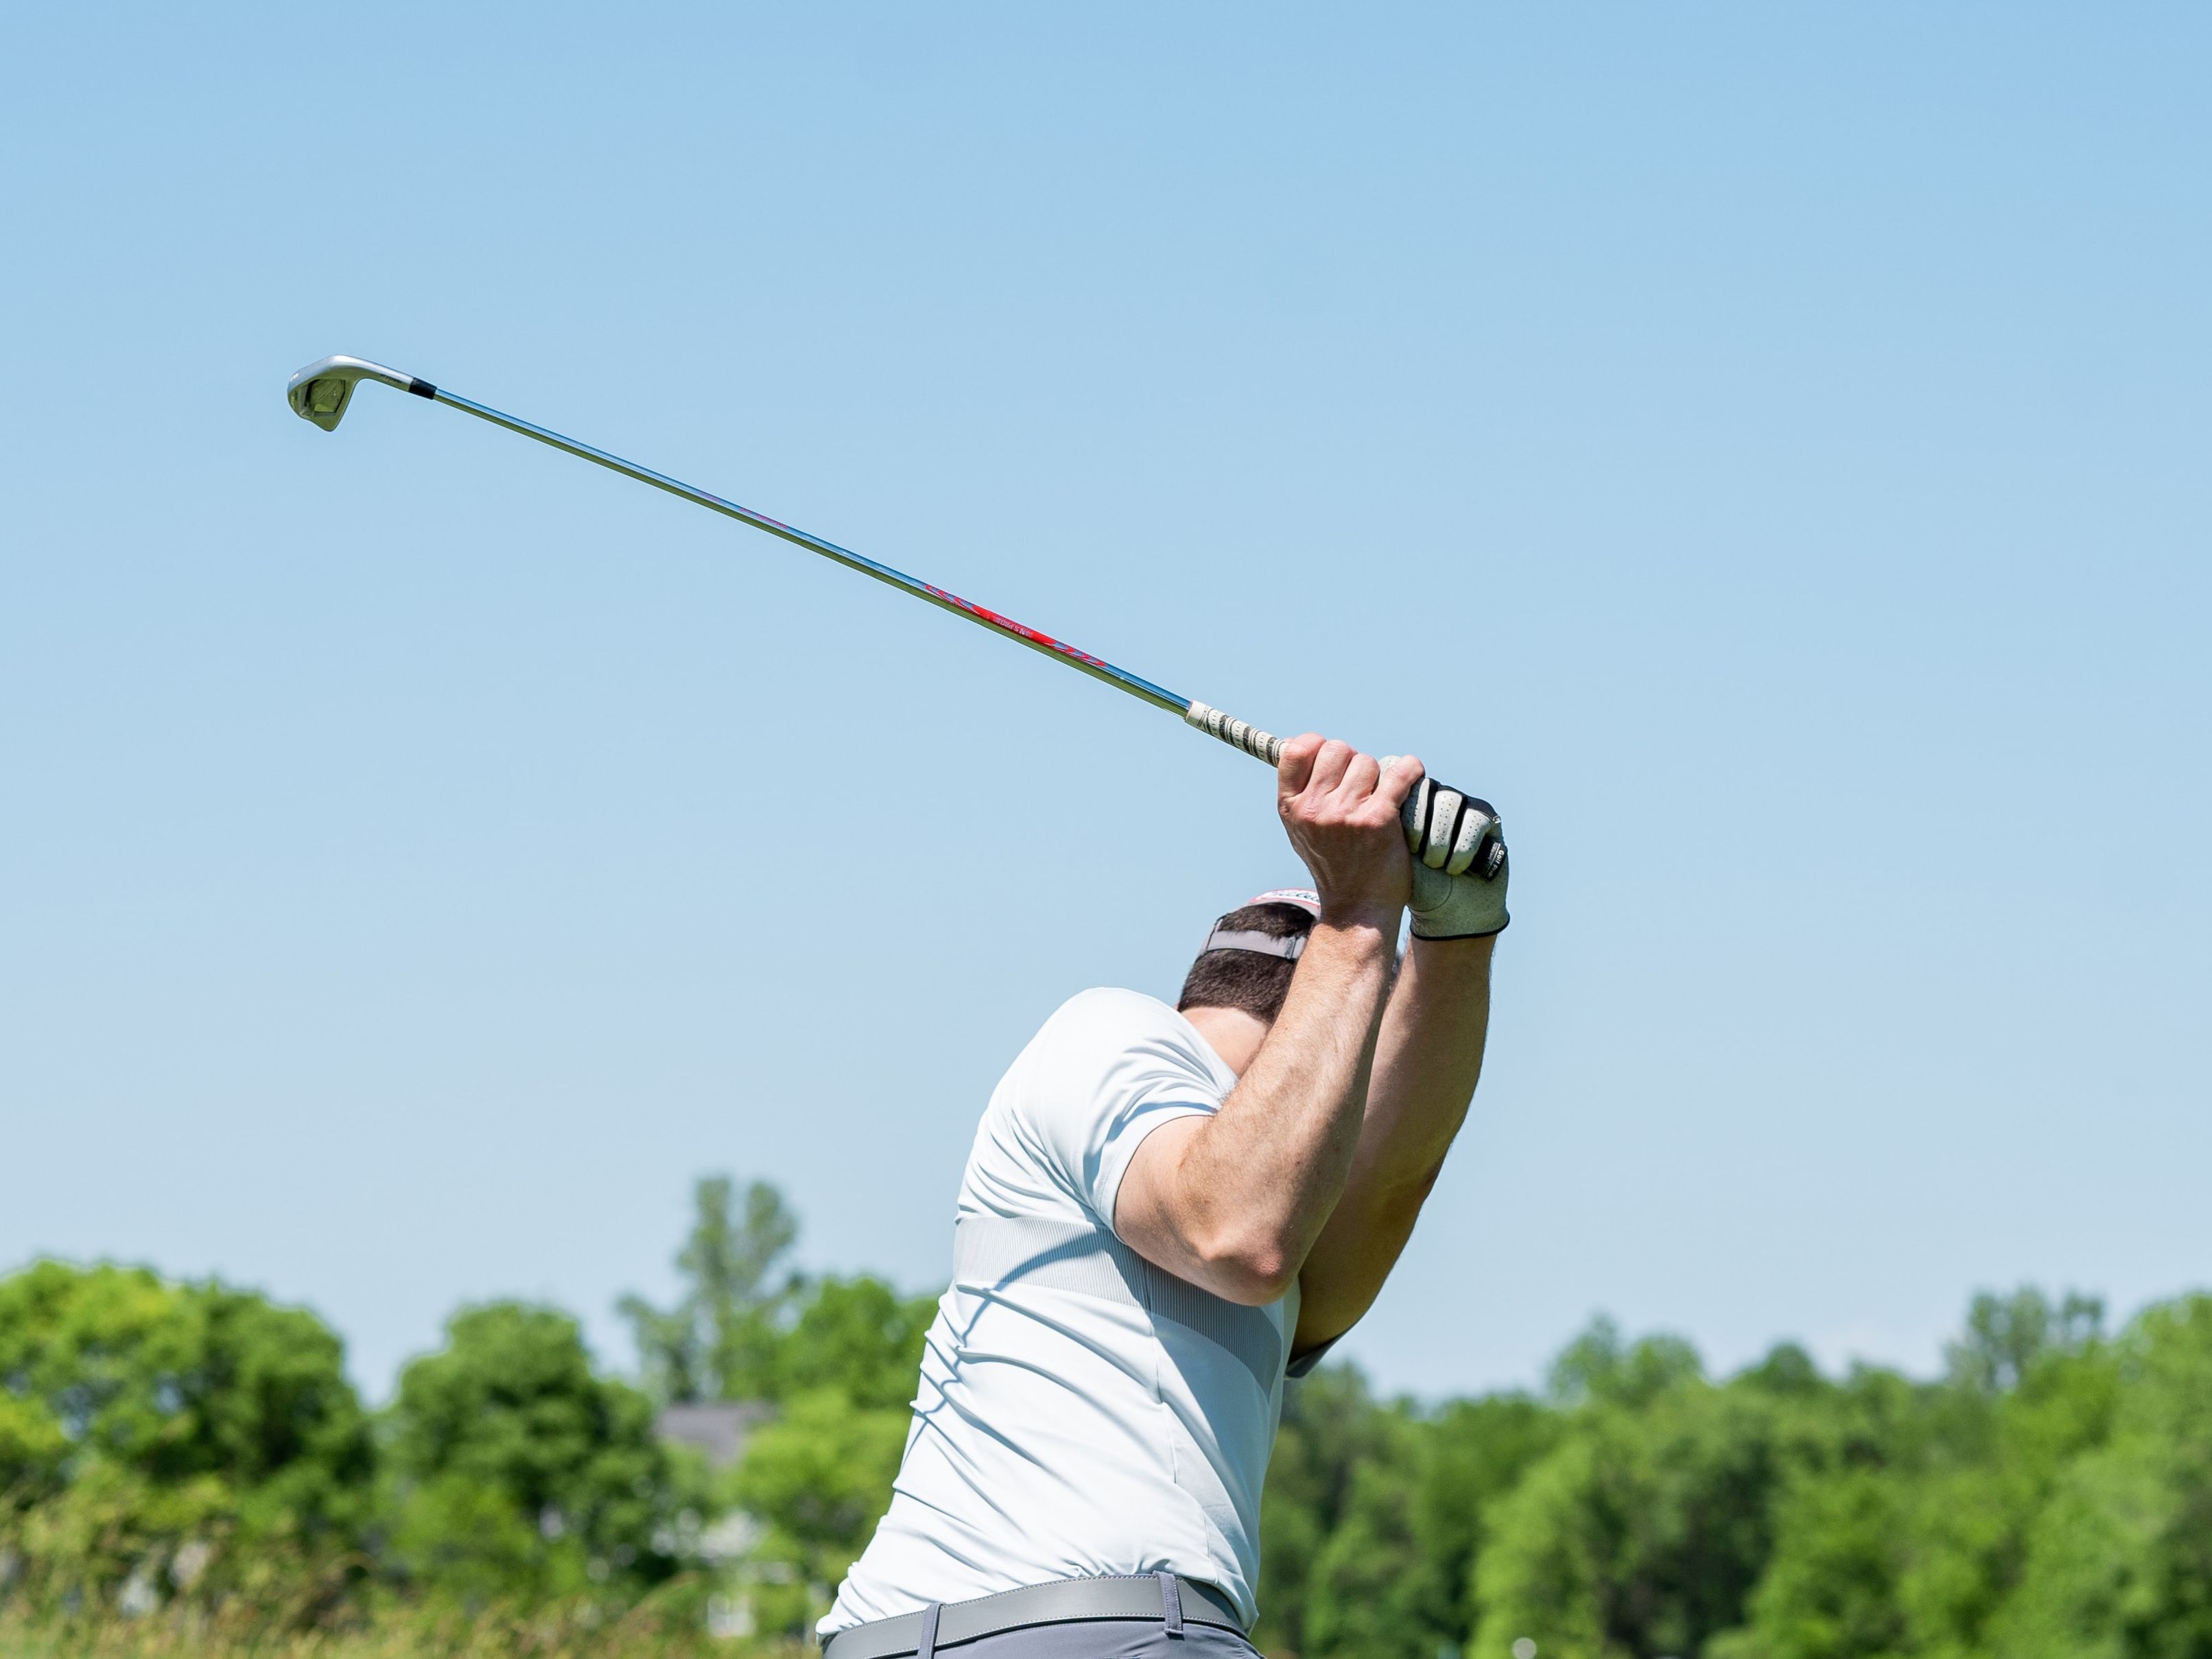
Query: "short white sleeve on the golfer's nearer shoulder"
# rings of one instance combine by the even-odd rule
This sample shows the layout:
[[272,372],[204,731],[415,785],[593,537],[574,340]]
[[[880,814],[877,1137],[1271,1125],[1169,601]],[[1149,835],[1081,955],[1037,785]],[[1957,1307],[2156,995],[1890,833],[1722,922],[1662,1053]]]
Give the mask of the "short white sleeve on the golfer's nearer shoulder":
[[1234,1073],[1168,1004],[1135,991],[1086,991],[1024,1055],[1018,1110],[1051,1179],[1108,1230],[1128,1161],[1177,1117],[1221,1108]]

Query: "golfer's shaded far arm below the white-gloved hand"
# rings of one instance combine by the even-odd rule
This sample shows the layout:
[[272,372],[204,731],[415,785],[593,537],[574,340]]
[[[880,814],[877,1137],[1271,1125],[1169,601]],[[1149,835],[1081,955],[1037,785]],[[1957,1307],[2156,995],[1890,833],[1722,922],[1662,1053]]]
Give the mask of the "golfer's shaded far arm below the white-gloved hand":
[[1298,1274],[1292,1352],[1352,1329],[1413,1234],[1482,1075],[1495,942],[1413,940],[1407,951],[1383,1015],[1352,1172]]

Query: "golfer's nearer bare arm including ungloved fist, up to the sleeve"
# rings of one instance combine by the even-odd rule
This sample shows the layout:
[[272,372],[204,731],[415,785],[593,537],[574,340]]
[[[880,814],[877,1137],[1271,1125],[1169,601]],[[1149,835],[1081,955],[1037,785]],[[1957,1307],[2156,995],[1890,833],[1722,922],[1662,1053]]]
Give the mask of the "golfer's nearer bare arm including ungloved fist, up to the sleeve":
[[1234,1303],[1272,1303],[1296,1283],[1352,1175],[1411,880],[1398,807],[1416,776],[1418,763],[1383,774],[1318,737],[1285,745],[1276,805],[1321,920],[1221,1110],[1152,1130],[1121,1177],[1115,1232]]

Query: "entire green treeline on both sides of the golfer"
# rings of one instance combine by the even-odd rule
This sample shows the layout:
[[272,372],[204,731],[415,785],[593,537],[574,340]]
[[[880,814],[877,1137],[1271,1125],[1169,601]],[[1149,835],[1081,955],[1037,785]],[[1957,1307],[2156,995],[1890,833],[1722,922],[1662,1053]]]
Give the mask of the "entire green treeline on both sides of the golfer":
[[[706,1181],[641,1374],[491,1303],[383,1411],[312,1314],[144,1270],[0,1281],[0,1601],[666,1606],[792,1637],[898,1464],[931,1298],[783,1267],[772,1188]],[[666,1402],[765,1400],[730,1469]],[[2212,1298],[2106,1334],[2093,1301],[1975,1298],[1940,1380],[1776,1347],[1708,1378],[1593,1325],[1542,1394],[1294,1385],[1263,1506],[1270,1652],[1307,1659],[2212,1655]]]

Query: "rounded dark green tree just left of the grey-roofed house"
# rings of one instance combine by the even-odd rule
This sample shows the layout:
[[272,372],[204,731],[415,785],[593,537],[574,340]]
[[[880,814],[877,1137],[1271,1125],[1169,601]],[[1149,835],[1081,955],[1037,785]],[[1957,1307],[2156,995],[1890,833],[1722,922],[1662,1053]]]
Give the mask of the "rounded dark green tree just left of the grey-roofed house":
[[653,1402],[591,1367],[573,1318],[489,1303],[400,1374],[385,1418],[392,1557],[467,1601],[628,1595],[677,1566],[699,1493]]

